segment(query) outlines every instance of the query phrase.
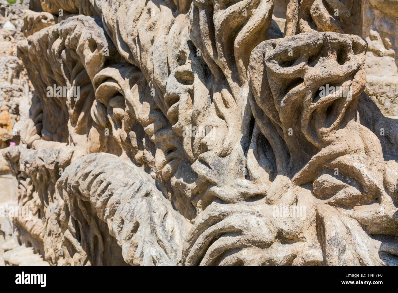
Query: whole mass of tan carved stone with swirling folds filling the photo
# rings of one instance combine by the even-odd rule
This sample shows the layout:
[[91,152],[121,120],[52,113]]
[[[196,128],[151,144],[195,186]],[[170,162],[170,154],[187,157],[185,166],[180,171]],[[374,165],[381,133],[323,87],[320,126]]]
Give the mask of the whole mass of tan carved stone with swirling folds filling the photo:
[[395,1],[33,4],[5,264],[398,265]]

